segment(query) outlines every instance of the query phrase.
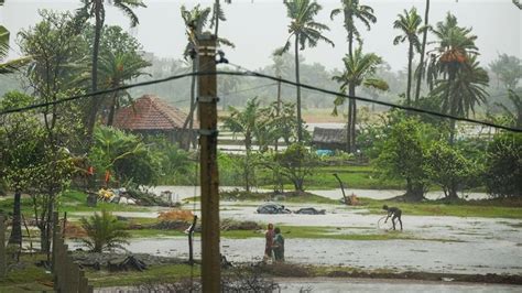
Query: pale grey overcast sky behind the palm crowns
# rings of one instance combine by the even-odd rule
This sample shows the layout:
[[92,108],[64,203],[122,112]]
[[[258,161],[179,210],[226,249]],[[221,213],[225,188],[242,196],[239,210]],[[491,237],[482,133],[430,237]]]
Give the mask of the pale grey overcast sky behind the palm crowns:
[[[107,1],[106,1],[107,2]],[[186,44],[185,28],[180,15],[180,7],[187,8],[196,3],[211,6],[213,1],[174,1],[145,0],[146,9],[138,9],[140,24],[131,33],[139,39],[145,51],[161,57],[180,58]],[[224,2],[224,1],[221,1]],[[233,0],[232,4],[224,4],[227,17],[220,22],[220,36],[236,44],[236,48],[225,48],[231,63],[255,69],[271,63],[270,55],[283,45],[287,37],[286,11],[282,0]],[[338,0],[318,1],[323,6],[317,21],[330,28],[325,35],[335,43],[335,47],[320,44],[315,48],[302,52],[307,62],[317,62],[328,68],[340,67],[340,59],[347,52],[346,31],[342,18],[338,15],[330,21],[329,13],[340,7]],[[392,23],[398,13],[411,7],[417,7],[424,15],[425,0],[361,0],[362,4],[374,9],[377,23],[367,32],[360,23],[365,39],[363,50],[374,52],[394,68],[406,65],[407,45],[394,46],[392,40],[399,34]],[[507,53],[522,58],[522,11],[511,0],[432,0],[429,22],[432,24],[444,19],[449,11],[457,15],[460,25],[472,26],[478,35],[477,45],[481,53],[481,62],[487,65],[498,54]],[[34,25],[39,21],[39,9],[74,10],[79,1],[73,0],[7,0],[0,8],[0,23],[6,25],[14,36],[22,28]],[[109,6],[106,22],[129,29],[124,15]],[[433,40],[433,37],[432,37]],[[19,55],[14,37],[11,37],[11,57]]]

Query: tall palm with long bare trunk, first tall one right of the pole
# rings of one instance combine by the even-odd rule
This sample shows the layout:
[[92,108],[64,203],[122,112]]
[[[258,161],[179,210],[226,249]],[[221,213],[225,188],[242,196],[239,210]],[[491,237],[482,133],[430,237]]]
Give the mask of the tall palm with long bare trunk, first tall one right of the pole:
[[[286,12],[291,19],[289,24],[289,39],[283,47],[279,48],[275,54],[282,55],[287,52],[291,46],[292,36],[294,36],[294,58],[295,58],[295,82],[297,83],[297,141],[303,141],[303,126],[302,126],[302,116],[301,116],[301,87],[300,87],[300,61],[298,53],[300,50],[305,50],[306,46],[315,47],[319,41],[326,42],[334,46],[328,37],[322,34],[323,31],[329,31],[329,28],[323,23],[314,21],[314,18],[323,9],[315,1],[311,0],[295,0],[295,1],[285,1]],[[301,46],[301,47],[300,47]]]

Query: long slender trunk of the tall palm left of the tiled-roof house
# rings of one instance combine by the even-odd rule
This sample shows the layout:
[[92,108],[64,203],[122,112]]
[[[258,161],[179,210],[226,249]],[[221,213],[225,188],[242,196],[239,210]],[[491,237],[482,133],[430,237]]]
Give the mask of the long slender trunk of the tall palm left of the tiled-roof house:
[[[98,55],[100,47],[101,29],[104,28],[104,19],[101,17],[101,0],[95,0],[95,43],[93,45],[93,70],[91,70],[91,90],[98,90]],[[90,109],[88,110],[89,117],[87,120],[87,143],[90,145],[93,142],[93,131],[96,124],[96,116],[98,115],[98,108],[100,106],[99,98],[94,96],[90,99]]]

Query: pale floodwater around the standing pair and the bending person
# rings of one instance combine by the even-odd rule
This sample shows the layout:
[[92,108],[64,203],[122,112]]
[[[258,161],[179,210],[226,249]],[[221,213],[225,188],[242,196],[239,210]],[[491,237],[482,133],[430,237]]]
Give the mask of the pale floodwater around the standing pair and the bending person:
[[[362,208],[314,205],[326,215],[261,215],[259,203],[221,203],[221,219],[253,220],[285,226],[325,227],[331,234],[389,234],[377,227],[379,215]],[[289,204],[295,210],[306,205]],[[156,217],[157,213],[115,213],[120,216]],[[198,211],[196,211],[198,214]],[[496,218],[431,217],[403,215],[405,237],[421,240],[336,240],[300,239],[282,231],[290,262],[316,265],[342,265],[359,269],[423,271],[438,273],[522,273],[522,221]],[[400,234],[400,231],[395,231]],[[262,231],[253,238],[221,239],[221,253],[232,262],[260,261],[264,249]],[[166,257],[187,257],[184,237],[133,239],[131,252]],[[200,251],[196,237],[195,251]],[[196,253],[199,257],[199,253]]]

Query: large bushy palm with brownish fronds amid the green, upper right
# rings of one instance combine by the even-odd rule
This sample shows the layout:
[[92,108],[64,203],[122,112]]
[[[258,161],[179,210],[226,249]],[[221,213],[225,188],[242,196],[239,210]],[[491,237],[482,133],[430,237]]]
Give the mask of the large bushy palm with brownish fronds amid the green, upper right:
[[[489,83],[487,73],[479,67],[476,61],[476,56],[479,54],[475,45],[477,36],[470,34],[471,29],[458,26],[457,18],[450,13],[447,14],[445,22],[436,24],[433,33],[438,40],[432,56],[431,68],[428,68],[431,72],[428,73],[431,79],[428,83],[436,85],[432,95],[442,97],[445,112],[453,116],[467,116],[474,105],[469,101],[480,101],[485,93],[478,88]],[[474,74],[478,74],[478,76],[472,76]],[[441,75],[443,78],[438,79]],[[474,87],[467,88],[468,86]],[[467,88],[467,93],[458,91],[463,88]],[[455,120],[452,120],[449,142],[453,143],[454,137]]]

